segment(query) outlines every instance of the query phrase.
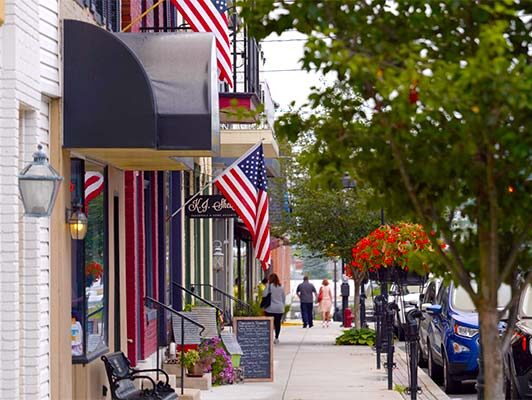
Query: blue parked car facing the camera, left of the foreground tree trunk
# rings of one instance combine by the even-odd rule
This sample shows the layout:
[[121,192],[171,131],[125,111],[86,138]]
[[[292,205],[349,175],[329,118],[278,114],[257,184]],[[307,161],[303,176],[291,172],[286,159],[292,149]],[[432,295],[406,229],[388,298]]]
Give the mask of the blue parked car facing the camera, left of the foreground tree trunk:
[[[476,290],[475,282],[471,285]],[[511,289],[502,285],[498,293],[502,308],[511,298]],[[427,329],[427,362],[429,375],[435,381],[443,378],[446,393],[456,392],[461,382],[478,375],[478,313],[462,287],[442,285],[436,303],[426,307],[432,316]]]

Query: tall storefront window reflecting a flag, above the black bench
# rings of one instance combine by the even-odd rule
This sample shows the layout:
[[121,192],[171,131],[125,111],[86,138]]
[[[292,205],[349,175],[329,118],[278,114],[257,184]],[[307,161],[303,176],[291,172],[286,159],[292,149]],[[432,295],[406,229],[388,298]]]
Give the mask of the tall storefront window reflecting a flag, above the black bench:
[[72,241],[72,357],[86,363],[108,351],[108,229],[105,168],[72,160],[72,203],[82,204],[88,228]]

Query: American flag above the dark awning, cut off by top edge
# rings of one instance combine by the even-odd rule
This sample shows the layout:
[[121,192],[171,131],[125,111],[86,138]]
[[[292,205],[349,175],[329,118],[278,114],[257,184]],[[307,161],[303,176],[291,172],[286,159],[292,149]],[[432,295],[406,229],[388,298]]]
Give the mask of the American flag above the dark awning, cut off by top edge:
[[216,38],[218,76],[233,86],[227,0],[172,0],[194,32],[212,32]]

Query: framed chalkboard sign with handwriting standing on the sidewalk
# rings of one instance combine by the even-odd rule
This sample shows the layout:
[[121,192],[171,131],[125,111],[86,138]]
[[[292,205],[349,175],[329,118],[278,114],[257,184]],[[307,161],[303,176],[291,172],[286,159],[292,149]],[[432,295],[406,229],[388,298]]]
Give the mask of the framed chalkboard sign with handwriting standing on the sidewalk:
[[234,328],[243,353],[244,380],[273,381],[273,318],[235,317]]

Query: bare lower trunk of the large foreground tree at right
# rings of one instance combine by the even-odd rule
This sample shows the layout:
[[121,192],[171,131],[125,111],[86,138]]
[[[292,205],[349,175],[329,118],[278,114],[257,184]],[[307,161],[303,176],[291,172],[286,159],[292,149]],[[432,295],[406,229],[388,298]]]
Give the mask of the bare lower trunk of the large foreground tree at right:
[[502,347],[499,337],[499,315],[496,307],[480,307],[480,340],[484,373],[484,399],[502,399],[503,364]]

